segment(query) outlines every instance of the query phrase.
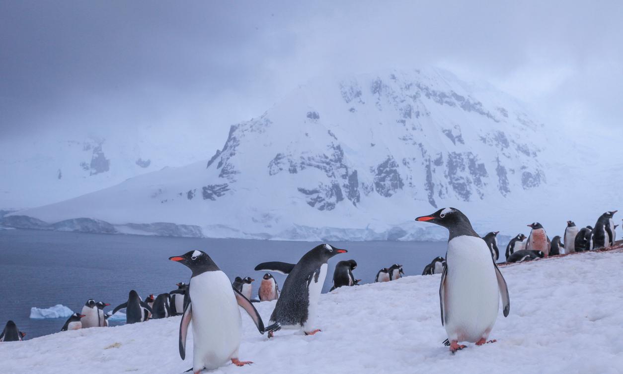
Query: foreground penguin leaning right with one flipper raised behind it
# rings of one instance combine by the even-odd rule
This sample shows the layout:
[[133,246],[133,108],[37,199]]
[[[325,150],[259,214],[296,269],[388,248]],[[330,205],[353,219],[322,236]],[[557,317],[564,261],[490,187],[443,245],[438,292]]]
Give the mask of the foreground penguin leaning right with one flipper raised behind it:
[[297,264],[282,262],[261,263],[255,270],[278,271],[288,274],[275,310],[270,315],[272,323],[266,327],[269,337],[280,329],[302,329],[305,335],[319,332],[316,329],[316,307],[325,283],[327,261],[346,250],[328,244],[315,246],[298,260]]

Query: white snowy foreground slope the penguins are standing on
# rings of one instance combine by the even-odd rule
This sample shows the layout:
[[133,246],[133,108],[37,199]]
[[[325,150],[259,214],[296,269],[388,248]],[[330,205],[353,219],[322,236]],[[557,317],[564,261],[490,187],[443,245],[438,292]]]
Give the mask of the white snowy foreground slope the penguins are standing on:
[[[503,266],[510,315],[490,335],[495,344],[450,355],[442,345],[440,275],[322,294],[313,336],[257,333],[243,314],[240,360],[215,373],[621,373],[623,253],[578,253]],[[255,304],[265,322],[275,301]],[[59,332],[0,345],[6,373],[181,373],[179,317]]]

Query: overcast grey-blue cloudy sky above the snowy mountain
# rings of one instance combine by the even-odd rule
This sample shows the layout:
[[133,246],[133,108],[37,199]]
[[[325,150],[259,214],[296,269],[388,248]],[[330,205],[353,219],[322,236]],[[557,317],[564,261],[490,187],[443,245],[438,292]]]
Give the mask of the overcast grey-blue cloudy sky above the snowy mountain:
[[4,0],[0,136],[185,123],[221,146],[310,78],[426,65],[549,124],[619,129],[622,4]]

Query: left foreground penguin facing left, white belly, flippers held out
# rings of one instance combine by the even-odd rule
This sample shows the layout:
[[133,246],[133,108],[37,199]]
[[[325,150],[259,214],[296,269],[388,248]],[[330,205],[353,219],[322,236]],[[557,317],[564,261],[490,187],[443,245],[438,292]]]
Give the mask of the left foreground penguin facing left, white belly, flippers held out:
[[207,253],[189,251],[182,256],[169,257],[188,266],[193,275],[189,283],[189,303],[179,324],[179,356],[186,357],[186,335],[193,321],[193,372],[203,368],[213,370],[231,360],[242,366],[249,361],[238,360],[242,335],[241,306],[264,334],[264,322],[249,299],[244,297],[219,269]]

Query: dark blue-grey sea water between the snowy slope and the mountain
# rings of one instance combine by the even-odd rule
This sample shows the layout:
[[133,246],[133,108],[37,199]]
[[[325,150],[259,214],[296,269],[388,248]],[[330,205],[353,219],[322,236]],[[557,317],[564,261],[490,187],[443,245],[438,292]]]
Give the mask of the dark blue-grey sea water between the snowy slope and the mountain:
[[[87,299],[109,302],[105,311],[125,302],[130,289],[143,299],[188,283],[186,266],[168,261],[190,250],[208,253],[230,279],[250,276],[257,297],[265,273],[254,271],[264,261],[296,263],[320,242],[242,239],[171,238],[39,230],[0,230],[0,329],[9,319],[27,339],[58,332],[65,318],[30,319],[31,307],[63,304],[75,312]],[[445,256],[447,243],[424,241],[332,241],[348,250],[329,261],[323,292],[331,288],[338,261],[354,259],[354,275],[374,282],[379,269],[399,263],[406,275],[421,274],[435,256]],[[285,275],[273,274],[281,286]]]

